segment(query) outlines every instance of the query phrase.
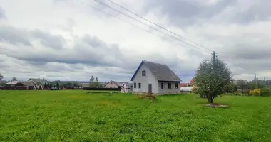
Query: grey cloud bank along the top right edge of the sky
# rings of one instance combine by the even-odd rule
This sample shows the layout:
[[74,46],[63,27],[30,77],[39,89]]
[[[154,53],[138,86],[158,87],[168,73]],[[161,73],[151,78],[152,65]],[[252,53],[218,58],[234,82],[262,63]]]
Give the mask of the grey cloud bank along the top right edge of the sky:
[[159,14],[167,16],[175,26],[191,26],[209,23],[247,24],[255,21],[270,21],[269,0],[220,0],[215,4],[206,1],[151,0],[146,3],[145,12],[161,9]]

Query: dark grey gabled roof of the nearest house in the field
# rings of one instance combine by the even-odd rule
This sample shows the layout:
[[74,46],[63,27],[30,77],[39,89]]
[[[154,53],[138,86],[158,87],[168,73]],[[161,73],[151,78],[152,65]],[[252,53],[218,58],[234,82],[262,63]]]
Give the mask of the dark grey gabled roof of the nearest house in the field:
[[136,73],[140,69],[142,65],[145,65],[148,67],[150,72],[153,73],[153,75],[159,80],[159,81],[170,81],[170,82],[180,82],[180,78],[172,71],[167,65],[155,63],[155,62],[148,62],[143,60],[138,69],[136,70],[135,74],[131,78],[131,81],[133,81],[133,78],[136,76]]

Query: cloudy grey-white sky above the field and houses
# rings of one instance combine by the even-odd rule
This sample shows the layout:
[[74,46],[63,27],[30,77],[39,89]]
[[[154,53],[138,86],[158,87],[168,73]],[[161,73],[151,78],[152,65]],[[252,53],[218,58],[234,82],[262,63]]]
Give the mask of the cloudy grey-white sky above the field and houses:
[[189,82],[215,51],[235,79],[255,72],[271,79],[270,7],[269,0],[0,0],[0,73],[129,82],[148,60]]

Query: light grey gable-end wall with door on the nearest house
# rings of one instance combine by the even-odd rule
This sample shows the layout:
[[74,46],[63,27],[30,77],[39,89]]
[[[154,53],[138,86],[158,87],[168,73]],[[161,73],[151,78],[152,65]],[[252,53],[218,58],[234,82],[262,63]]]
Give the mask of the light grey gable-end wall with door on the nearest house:
[[[146,75],[142,76],[142,71],[145,70]],[[135,87],[136,83],[136,87]],[[139,88],[139,83],[141,87]],[[158,94],[158,80],[152,72],[144,64],[141,65],[140,69],[133,78],[133,92],[148,93],[148,84],[152,84],[152,92]],[[180,90],[180,89],[179,89]]]

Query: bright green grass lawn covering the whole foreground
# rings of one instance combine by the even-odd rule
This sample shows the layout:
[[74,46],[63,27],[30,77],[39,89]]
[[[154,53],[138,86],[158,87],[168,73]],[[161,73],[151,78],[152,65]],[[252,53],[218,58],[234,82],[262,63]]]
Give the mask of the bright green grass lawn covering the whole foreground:
[[271,97],[0,91],[0,141],[271,141]]

